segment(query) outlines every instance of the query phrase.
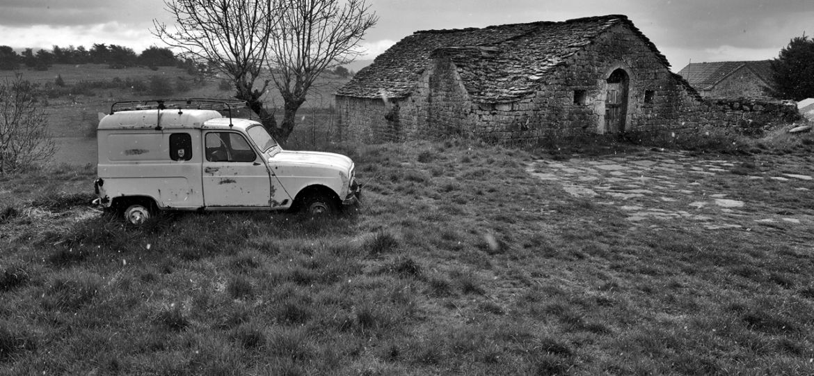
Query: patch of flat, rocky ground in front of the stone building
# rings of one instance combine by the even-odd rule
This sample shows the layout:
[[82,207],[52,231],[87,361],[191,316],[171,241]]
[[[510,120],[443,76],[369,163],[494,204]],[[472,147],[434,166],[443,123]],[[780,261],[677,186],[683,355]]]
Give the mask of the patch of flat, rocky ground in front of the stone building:
[[[760,164],[681,151],[648,151],[535,160],[527,165],[527,171],[562,186],[572,196],[619,208],[632,226],[697,225],[707,230],[752,230],[759,226],[784,232],[811,229],[814,211],[806,208],[811,206],[814,190],[811,170],[805,163],[798,168],[785,164],[783,168],[761,168]],[[784,198],[780,205],[766,199],[777,195]],[[801,205],[794,208],[798,199]]]

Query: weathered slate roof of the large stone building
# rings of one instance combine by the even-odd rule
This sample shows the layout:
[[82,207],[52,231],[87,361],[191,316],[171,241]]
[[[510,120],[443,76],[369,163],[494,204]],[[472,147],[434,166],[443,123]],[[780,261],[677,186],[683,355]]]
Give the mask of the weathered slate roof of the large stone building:
[[487,28],[419,31],[405,37],[337,91],[356,98],[405,98],[431,59],[444,55],[458,68],[475,102],[511,102],[532,93],[546,74],[609,28],[626,24],[669,68],[670,63],[624,15]]

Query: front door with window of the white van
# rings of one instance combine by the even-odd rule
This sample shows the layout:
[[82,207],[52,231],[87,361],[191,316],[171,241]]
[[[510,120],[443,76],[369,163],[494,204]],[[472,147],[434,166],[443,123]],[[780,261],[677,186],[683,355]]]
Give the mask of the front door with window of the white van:
[[243,134],[207,132],[204,147],[204,206],[269,207],[269,170]]

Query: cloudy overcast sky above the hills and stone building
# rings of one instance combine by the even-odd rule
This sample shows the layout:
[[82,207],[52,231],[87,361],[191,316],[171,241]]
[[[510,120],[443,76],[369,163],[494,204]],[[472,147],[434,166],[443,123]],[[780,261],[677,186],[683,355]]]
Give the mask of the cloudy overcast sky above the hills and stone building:
[[[416,30],[484,27],[624,14],[672,63],[772,59],[814,33],[812,0],[368,0],[379,24],[365,37],[373,59]],[[136,53],[163,46],[152,20],[162,0],[0,0],[0,45],[35,50],[106,43]]]

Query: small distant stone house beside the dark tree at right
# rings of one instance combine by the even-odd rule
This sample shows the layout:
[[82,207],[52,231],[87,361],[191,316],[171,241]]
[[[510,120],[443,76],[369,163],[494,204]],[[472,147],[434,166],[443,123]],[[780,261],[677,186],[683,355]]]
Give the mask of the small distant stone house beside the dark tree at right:
[[703,97],[767,97],[772,61],[689,63],[678,74]]

